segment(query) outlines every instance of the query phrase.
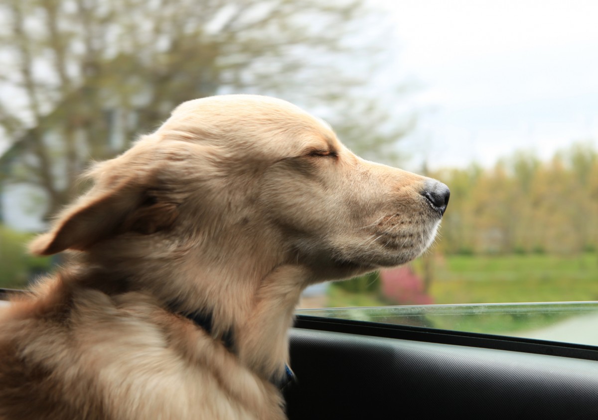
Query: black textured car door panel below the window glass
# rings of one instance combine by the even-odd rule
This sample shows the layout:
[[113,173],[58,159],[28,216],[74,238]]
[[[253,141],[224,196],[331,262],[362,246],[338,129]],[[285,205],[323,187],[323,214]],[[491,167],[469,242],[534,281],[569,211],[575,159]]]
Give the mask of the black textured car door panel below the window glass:
[[293,419],[598,419],[598,361],[291,330]]

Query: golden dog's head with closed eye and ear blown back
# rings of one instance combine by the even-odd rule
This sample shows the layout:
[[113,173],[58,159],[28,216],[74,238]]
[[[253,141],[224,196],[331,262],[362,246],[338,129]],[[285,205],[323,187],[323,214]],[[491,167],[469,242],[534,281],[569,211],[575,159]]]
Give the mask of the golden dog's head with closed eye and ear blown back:
[[290,263],[326,280],[418,256],[449,200],[444,184],[364,161],[325,122],[261,96],[185,102],[90,176],[32,252]]

